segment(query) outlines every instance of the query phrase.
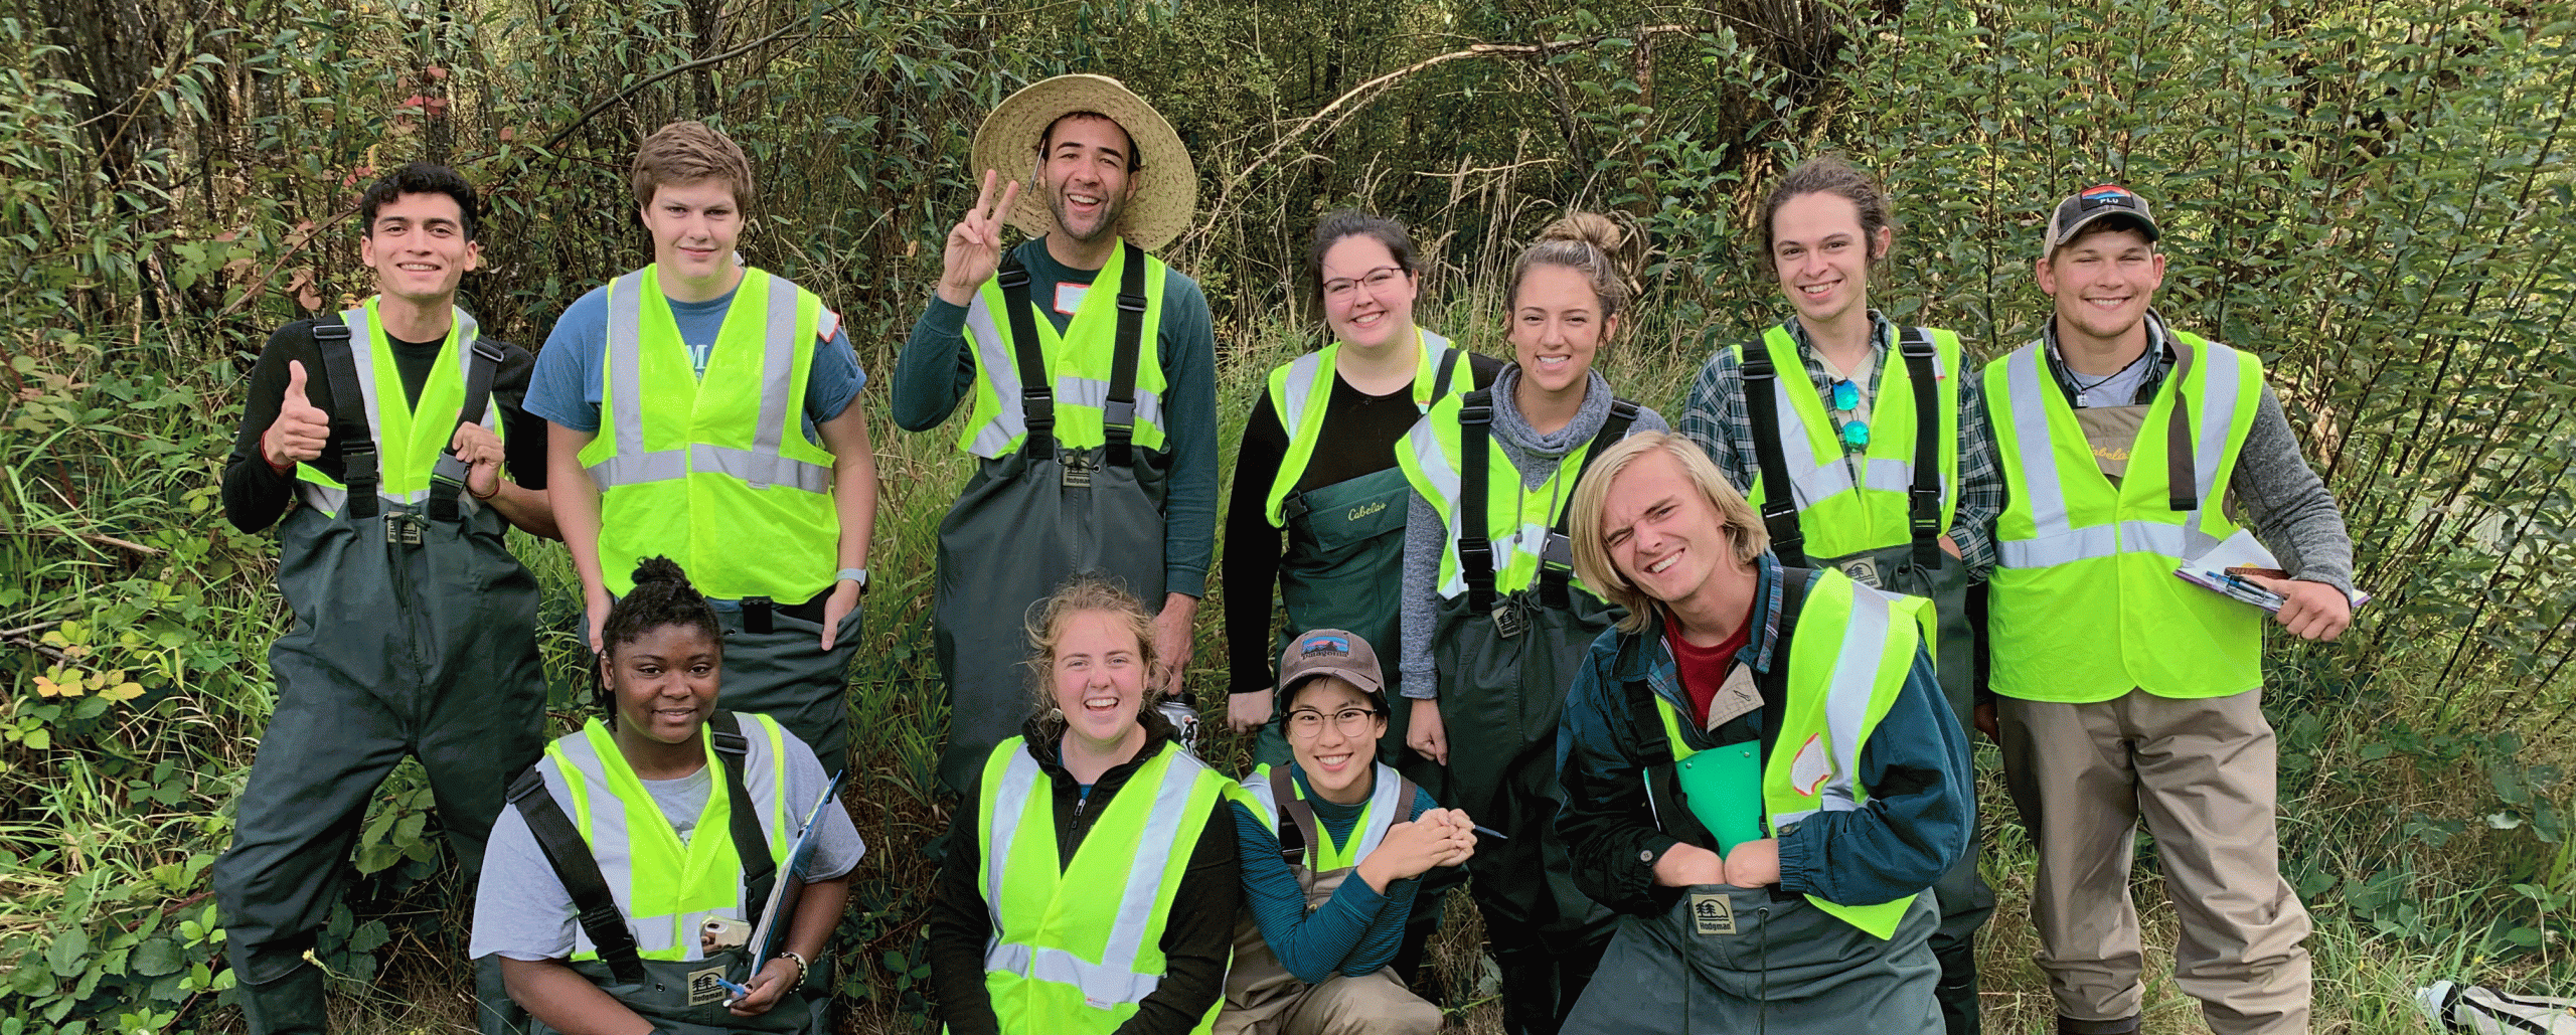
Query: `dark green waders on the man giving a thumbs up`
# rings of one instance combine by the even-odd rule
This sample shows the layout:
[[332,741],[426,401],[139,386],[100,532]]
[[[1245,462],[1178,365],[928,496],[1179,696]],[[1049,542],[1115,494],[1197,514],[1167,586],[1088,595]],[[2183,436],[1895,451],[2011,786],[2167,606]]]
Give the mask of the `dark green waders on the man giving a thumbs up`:
[[[232,850],[211,875],[255,1032],[319,1030],[322,981],[301,953],[348,886],[368,798],[404,754],[420,757],[471,886],[502,783],[544,752],[538,587],[510,556],[507,525],[464,499],[466,471],[451,456],[420,502],[379,497],[348,327],[317,324],[314,345],[345,499],[337,512],[301,505],[278,520],[278,590],[294,628],[268,649],[276,713],[242,788]],[[459,415],[469,422],[482,422],[500,366],[497,348],[477,345]],[[477,996],[507,1007],[500,971],[487,971]],[[482,1022],[492,1032],[500,1020]]]

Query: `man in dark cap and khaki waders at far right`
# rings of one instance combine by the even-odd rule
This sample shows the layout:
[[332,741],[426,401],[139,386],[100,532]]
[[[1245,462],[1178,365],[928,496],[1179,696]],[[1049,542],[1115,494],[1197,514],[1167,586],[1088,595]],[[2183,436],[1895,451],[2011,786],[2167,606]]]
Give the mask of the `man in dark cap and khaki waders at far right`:
[[2290,572],[2254,577],[2282,597],[2277,620],[2336,639],[2352,538],[2262,360],[2156,317],[2156,237],[2128,188],[2058,201],[2035,268],[2056,314],[1986,366],[2007,505],[1996,705],[1978,723],[1999,711],[2004,783],[2040,850],[2030,922],[2061,1035],[2138,1030],[2141,819],[2182,919],[2174,984],[2210,1032],[2306,1032],[2308,911],[2280,878],[2264,613],[2174,569],[2244,520]]

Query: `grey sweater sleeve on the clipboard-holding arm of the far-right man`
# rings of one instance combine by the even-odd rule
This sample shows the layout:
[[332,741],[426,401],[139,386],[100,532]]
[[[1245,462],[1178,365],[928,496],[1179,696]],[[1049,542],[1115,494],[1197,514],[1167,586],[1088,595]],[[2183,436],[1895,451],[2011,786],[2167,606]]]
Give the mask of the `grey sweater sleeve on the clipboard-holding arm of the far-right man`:
[[2262,389],[2228,489],[2244,507],[2254,538],[2280,559],[2282,572],[2352,595],[2352,536],[2344,530],[2344,512],[2334,505],[2326,479],[2318,479],[2298,453],[2298,435],[2290,433],[2290,417],[2269,384]]

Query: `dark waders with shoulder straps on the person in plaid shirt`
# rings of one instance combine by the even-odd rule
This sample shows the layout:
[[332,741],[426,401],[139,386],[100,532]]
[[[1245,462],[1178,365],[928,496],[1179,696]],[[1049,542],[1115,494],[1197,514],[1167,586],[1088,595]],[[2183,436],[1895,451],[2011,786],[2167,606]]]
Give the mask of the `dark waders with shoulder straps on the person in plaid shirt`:
[[[1852,582],[1888,592],[1932,600],[1940,641],[1932,667],[1940,672],[1942,698],[1960,729],[1976,729],[1976,651],[1978,628],[1968,613],[1968,564],[1940,548],[1942,474],[1940,474],[1940,399],[1932,386],[1932,342],[1922,330],[1906,327],[1899,340],[1906,378],[1914,389],[1914,484],[1906,489],[1906,525],[1911,541],[1875,551],[1844,556],[1806,556],[1806,530],[1798,525],[1798,505],[1788,487],[1788,458],[1780,451],[1780,415],[1775,378],[1767,350],[1744,353],[1744,409],[1754,427],[1754,456],[1762,463],[1762,484],[1783,487],[1767,492],[1762,525],[1772,536],[1772,556],[1785,566],[1832,566]],[[1994,914],[1994,888],[1978,875],[1978,839],[1968,839],[1968,852],[1932,883],[1942,906],[1940,932],[1932,947],[1942,960],[1942,1014],[1950,1035],[1976,1035],[1981,1030],[1976,1004],[1976,929]]]

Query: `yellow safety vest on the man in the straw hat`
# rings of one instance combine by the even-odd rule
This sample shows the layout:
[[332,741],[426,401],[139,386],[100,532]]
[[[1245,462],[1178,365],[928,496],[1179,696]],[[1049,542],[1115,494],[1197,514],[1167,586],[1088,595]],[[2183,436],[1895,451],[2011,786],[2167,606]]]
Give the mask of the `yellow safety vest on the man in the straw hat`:
[[[1162,288],[1170,281],[1170,268],[1151,255],[1144,260],[1144,322],[1136,332],[1136,435],[1131,440],[1141,448],[1164,448],[1162,391],[1167,381],[1157,345],[1162,342]],[[1105,407],[1118,358],[1118,278],[1123,270],[1126,247],[1115,247],[1061,335],[1043,309],[1030,322],[1038,330],[1038,355],[1046,355],[1046,376],[1056,386],[1054,435],[1059,448],[1108,445]],[[1041,301],[1030,299],[1030,306],[1036,309]],[[999,278],[984,281],[966,306],[966,342],[974,353],[976,378],[974,409],[958,433],[958,448],[987,461],[1015,453],[1028,438],[1028,415],[1020,409],[1020,360],[1012,353],[1007,312]]]

